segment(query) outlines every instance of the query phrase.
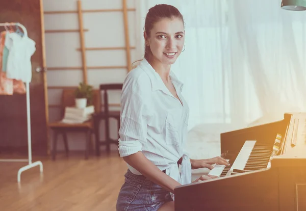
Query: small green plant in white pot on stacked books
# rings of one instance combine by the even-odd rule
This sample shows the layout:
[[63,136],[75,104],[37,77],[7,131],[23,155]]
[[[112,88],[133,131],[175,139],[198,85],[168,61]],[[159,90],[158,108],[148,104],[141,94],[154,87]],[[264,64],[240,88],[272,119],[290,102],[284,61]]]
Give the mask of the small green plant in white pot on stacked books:
[[75,107],[84,109],[89,105],[92,105],[92,86],[84,83],[80,83],[75,90]]

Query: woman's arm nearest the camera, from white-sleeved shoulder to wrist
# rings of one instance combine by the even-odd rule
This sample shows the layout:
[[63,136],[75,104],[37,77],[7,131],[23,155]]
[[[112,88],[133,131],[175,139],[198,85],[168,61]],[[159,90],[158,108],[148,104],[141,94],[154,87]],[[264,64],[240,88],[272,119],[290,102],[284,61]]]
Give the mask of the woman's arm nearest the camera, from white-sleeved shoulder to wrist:
[[141,152],[147,144],[147,116],[151,86],[146,74],[128,74],[121,92],[119,153],[123,160],[165,190],[174,193],[181,184],[163,173]]

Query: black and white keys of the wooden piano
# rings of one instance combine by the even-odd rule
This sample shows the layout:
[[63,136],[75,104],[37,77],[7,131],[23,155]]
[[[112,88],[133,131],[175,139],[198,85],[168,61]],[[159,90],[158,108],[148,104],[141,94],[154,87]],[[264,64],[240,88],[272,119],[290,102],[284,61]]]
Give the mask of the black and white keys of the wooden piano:
[[271,155],[271,145],[257,143],[256,141],[246,141],[238,155],[228,160],[231,166],[215,165],[209,175],[223,177],[231,175],[235,171],[254,171],[265,169]]

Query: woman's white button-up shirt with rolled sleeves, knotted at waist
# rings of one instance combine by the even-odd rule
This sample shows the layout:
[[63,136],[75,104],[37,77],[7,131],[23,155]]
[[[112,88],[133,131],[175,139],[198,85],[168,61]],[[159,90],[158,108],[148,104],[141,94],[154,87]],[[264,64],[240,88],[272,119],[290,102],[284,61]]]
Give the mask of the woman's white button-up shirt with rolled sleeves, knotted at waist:
[[[131,70],[121,91],[120,156],[138,151],[160,170],[180,182],[191,182],[191,164],[184,150],[187,141],[189,108],[181,92],[183,83],[170,70],[180,100],[174,97],[154,68],[143,59]],[[181,174],[177,161],[182,160]],[[127,164],[132,173],[141,173]]]

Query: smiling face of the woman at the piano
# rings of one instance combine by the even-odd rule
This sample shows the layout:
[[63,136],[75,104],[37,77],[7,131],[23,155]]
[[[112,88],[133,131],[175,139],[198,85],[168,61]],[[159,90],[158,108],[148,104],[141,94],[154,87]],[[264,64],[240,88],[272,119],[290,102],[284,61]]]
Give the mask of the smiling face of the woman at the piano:
[[184,23],[180,18],[163,18],[154,24],[150,37],[145,34],[145,40],[155,59],[162,64],[173,64],[184,46]]

